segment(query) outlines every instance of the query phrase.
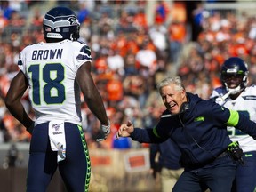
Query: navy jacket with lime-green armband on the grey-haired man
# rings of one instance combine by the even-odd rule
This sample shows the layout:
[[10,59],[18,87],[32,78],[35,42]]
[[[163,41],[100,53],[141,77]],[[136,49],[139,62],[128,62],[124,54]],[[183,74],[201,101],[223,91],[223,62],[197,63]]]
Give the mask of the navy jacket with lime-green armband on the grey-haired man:
[[161,143],[171,138],[180,148],[181,164],[199,168],[210,164],[227,150],[231,140],[227,125],[235,126],[256,138],[256,124],[243,114],[187,93],[188,108],[172,116],[165,110],[154,129],[135,128],[132,140]]

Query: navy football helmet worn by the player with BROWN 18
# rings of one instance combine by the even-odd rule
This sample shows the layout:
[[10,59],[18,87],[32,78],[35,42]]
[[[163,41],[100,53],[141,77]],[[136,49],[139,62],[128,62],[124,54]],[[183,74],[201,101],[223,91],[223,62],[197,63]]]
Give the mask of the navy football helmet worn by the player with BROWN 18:
[[55,7],[47,12],[43,20],[44,39],[46,42],[79,38],[80,23],[75,12],[66,7]]

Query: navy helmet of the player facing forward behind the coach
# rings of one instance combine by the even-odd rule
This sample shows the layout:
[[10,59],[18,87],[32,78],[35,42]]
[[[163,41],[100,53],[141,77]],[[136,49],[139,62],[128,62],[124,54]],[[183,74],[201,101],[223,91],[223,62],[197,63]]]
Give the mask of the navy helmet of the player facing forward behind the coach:
[[230,57],[221,67],[221,82],[231,94],[236,94],[248,84],[248,66],[238,57]]

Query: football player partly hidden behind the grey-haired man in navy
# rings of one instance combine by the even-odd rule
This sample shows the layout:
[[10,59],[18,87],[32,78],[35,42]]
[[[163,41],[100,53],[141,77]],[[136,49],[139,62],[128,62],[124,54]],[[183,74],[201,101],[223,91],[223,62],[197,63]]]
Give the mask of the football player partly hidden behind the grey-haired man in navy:
[[[256,121],[256,86],[248,84],[248,66],[238,57],[225,60],[221,67],[223,86],[213,90],[211,99],[220,105],[243,112]],[[229,137],[238,141],[244,151],[244,164],[237,164],[232,191],[249,192],[256,187],[256,140],[234,127],[228,127]]]

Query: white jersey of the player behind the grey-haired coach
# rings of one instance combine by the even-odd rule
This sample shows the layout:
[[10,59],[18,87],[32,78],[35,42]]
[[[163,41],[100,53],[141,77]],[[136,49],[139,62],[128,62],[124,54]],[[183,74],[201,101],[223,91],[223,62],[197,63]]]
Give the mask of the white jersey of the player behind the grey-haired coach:
[[[211,98],[223,96],[226,92],[224,87],[217,88],[213,90]],[[249,116],[252,121],[256,122],[256,86],[246,87],[236,100],[231,100],[228,97],[222,105],[226,108],[243,112],[244,115]],[[228,134],[232,141],[239,142],[244,152],[256,150],[256,140],[253,140],[250,135],[234,127],[228,127]]]

